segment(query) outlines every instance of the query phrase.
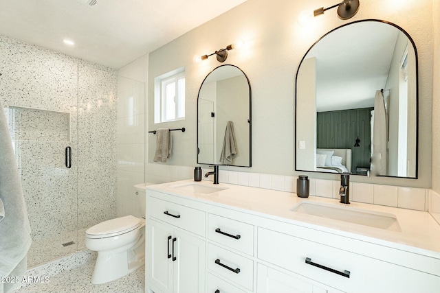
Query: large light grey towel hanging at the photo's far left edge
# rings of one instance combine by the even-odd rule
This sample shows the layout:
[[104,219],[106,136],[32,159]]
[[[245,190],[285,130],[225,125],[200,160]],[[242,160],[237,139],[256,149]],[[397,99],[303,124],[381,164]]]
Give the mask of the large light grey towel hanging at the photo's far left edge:
[[[30,224],[19,169],[1,101],[0,200],[3,202],[3,219],[0,222],[0,278],[8,277],[12,272],[17,274],[14,277],[20,277],[25,274],[26,266],[23,265],[23,259],[31,244]],[[0,289],[3,290],[3,284]]]

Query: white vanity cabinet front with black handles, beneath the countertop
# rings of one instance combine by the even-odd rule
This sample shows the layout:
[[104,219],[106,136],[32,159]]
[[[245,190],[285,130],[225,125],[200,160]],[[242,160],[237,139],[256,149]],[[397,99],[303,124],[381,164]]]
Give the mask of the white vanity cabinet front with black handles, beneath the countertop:
[[230,196],[146,194],[155,293],[440,292],[434,252],[252,211],[252,202],[235,207]]

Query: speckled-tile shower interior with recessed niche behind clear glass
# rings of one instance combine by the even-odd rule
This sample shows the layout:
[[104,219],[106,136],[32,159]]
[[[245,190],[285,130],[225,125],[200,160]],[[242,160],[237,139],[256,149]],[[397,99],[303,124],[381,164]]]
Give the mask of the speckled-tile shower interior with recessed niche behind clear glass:
[[[83,247],[78,233],[115,218],[116,71],[0,36],[0,73],[32,228],[32,267]],[[62,245],[69,241],[75,244]]]

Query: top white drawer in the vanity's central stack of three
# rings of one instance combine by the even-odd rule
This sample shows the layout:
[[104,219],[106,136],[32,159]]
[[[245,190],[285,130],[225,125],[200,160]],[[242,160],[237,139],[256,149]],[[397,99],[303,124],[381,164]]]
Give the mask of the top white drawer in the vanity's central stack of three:
[[251,224],[208,214],[208,238],[222,246],[254,255],[254,226]]

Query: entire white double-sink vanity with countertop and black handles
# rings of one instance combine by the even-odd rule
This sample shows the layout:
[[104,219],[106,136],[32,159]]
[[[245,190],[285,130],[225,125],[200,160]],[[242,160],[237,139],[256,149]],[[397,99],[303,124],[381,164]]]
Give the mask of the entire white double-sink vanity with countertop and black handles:
[[146,292],[439,292],[427,212],[192,180],[146,196]]

